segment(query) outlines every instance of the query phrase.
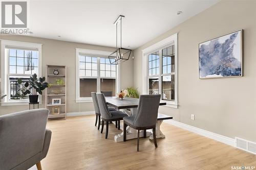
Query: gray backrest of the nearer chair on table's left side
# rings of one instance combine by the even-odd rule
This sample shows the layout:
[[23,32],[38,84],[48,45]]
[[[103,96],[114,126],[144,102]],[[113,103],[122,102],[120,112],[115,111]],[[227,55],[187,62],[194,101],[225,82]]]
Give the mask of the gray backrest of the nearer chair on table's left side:
[[100,115],[104,119],[110,119],[112,117],[108,105],[106,105],[106,99],[103,93],[97,93],[97,100],[99,103]]

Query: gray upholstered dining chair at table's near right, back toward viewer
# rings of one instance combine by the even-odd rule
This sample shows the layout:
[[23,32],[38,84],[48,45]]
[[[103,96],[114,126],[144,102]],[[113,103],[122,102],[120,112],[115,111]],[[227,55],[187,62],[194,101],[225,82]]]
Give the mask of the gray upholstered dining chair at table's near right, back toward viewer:
[[146,130],[153,129],[154,143],[157,148],[156,123],[160,98],[160,94],[140,95],[137,114],[123,118],[123,141],[126,141],[127,125],[138,130],[137,151],[139,151],[140,130],[144,130],[144,137],[146,137]]

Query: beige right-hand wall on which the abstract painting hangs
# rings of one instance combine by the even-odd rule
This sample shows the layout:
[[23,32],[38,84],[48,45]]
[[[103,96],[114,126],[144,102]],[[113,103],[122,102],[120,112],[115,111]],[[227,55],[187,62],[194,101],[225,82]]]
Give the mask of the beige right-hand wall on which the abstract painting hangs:
[[[244,77],[199,80],[198,44],[240,29],[244,30]],[[162,106],[160,112],[187,125],[256,142],[256,1],[221,1],[134,50],[134,86],[139,91],[142,50],[175,33],[179,108]]]

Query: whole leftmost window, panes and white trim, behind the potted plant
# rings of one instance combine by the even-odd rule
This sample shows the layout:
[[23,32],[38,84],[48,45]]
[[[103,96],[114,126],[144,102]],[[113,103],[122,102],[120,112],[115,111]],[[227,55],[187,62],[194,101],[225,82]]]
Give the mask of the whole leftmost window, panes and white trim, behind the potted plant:
[[2,67],[2,93],[7,97],[2,101],[2,105],[19,105],[28,102],[28,95],[23,95],[16,85],[17,79],[21,78],[23,83],[29,81],[33,74],[41,76],[40,56],[41,44],[1,41]]

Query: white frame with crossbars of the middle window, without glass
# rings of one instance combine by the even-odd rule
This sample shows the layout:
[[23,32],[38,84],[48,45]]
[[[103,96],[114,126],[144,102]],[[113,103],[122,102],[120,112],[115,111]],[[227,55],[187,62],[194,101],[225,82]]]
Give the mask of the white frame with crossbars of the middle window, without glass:
[[82,48],[76,49],[76,103],[93,102],[92,97],[80,97],[80,78],[79,77],[79,54],[84,54],[88,57],[97,57],[97,77],[84,76],[84,79],[97,79],[97,92],[100,92],[100,79],[115,79],[116,80],[116,91],[120,91],[120,64],[116,66],[116,77],[100,77],[100,58],[108,58],[112,52],[89,50]]

